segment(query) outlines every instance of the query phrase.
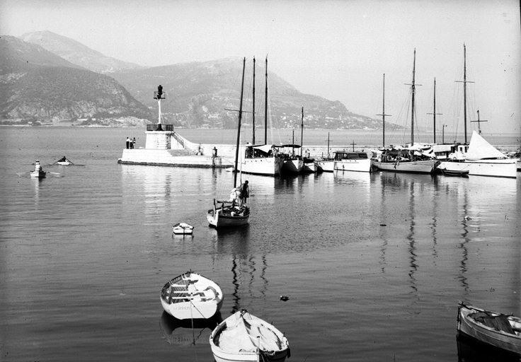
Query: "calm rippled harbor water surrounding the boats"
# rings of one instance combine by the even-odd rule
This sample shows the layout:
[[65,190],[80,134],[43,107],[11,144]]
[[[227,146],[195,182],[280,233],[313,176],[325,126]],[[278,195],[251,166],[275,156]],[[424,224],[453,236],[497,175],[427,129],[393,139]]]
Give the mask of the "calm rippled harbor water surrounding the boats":
[[[521,315],[520,177],[248,175],[249,225],[217,231],[232,174],[118,165],[127,136],[144,146],[142,129],[0,129],[0,361],[213,361],[216,320],[178,325],[159,301],[188,269],[222,287],[220,317],[285,332],[288,361],[456,362],[458,300]],[[62,156],[76,165],[47,165]],[[44,180],[23,175],[35,159]]]

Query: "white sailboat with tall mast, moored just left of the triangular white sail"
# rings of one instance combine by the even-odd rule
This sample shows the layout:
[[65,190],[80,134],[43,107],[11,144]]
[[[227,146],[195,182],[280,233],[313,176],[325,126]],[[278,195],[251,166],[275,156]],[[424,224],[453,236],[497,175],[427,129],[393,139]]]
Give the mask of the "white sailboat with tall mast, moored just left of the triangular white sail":
[[414,95],[416,86],[414,76],[416,74],[416,49],[414,49],[413,81],[411,83],[411,144],[385,149],[378,158],[373,160],[373,165],[379,170],[402,173],[432,173],[439,161],[435,160],[430,146],[414,144]]

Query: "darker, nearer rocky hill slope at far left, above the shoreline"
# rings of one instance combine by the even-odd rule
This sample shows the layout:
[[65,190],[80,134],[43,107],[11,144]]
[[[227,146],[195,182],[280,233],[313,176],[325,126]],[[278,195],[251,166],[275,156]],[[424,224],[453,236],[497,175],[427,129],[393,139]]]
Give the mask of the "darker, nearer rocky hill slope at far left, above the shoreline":
[[142,125],[151,111],[109,76],[17,37],[0,37],[1,124]]

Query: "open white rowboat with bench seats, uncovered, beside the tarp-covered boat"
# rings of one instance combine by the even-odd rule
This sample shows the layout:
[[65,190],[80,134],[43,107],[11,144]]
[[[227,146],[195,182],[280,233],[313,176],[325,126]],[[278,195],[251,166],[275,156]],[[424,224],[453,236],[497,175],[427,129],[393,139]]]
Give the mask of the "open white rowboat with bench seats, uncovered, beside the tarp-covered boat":
[[221,309],[224,296],[217,283],[187,271],[164,285],[160,299],[166,313],[187,320],[213,317]]

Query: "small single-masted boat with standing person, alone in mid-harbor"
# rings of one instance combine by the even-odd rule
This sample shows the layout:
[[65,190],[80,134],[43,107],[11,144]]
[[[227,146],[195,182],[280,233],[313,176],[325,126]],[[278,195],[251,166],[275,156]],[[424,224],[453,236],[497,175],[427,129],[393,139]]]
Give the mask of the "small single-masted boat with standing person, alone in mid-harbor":
[[[242,84],[241,84],[241,100],[239,103],[239,119],[237,122],[237,141],[235,148],[235,167],[234,167],[234,188],[232,192],[236,192],[237,187],[237,165],[239,163],[239,142],[241,140],[241,119],[242,119],[242,100],[244,93],[244,69],[246,67],[246,58],[243,61],[242,68]],[[208,210],[206,216],[210,226],[214,228],[242,226],[248,223],[250,218],[250,208],[246,205],[239,206],[234,197],[227,201],[218,201],[214,199],[212,209]]]

